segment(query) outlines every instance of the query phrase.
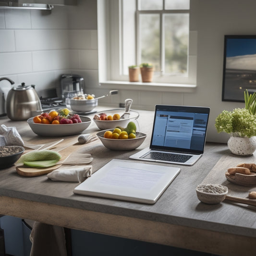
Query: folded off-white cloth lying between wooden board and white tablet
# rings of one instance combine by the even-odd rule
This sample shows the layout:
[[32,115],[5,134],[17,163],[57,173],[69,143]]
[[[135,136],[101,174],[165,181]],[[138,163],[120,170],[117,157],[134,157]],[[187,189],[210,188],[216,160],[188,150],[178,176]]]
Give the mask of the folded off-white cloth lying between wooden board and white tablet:
[[69,165],[61,166],[60,168],[48,173],[47,177],[52,181],[83,182],[91,175],[91,165]]

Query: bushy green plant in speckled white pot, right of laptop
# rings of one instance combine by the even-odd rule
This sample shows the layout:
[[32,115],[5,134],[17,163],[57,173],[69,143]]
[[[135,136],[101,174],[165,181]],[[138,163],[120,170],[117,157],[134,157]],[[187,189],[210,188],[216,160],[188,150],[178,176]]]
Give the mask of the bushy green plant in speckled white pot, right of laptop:
[[245,107],[223,110],[215,120],[218,133],[230,134],[228,147],[235,155],[248,156],[256,150],[256,93],[244,92]]

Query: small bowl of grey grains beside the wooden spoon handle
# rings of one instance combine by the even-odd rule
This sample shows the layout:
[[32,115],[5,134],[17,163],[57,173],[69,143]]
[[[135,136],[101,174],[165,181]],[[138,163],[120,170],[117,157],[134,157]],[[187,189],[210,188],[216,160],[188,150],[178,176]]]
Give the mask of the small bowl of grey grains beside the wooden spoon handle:
[[[206,188],[206,187],[211,190],[217,187],[217,190],[219,188],[219,191],[216,191],[215,193],[205,192],[203,188]],[[208,205],[221,203],[225,199],[226,195],[228,194],[228,188],[226,186],[222,186],[219,184],[198,185],[195,190],[196,190],[197,198],[201,202]]]

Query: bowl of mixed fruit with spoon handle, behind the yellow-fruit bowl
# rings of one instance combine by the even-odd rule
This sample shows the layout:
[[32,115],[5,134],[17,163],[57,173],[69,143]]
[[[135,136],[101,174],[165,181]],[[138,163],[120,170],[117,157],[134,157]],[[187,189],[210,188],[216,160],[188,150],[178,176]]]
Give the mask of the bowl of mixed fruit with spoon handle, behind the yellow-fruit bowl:
[[100,130],[107,130],[113,129],[117,126],[126,127],[130,121],[136,120],[139,117],[139,113],[137,111],[130,110],[129,114],[124,115],[124,118],[122,118],[122,114],[124,112],[125,110],[122,109],[98,112],[94,115],[93,121]]

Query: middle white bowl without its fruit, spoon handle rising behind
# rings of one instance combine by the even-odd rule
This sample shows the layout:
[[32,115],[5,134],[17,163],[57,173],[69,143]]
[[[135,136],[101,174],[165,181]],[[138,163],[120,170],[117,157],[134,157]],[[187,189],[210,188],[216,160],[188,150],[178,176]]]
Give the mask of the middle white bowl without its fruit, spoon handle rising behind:
[[[122,114],[124,112],[125,112],[125,110],[116,109],[116,110],[101,111],[101,112],[97,112],[95,114],[106,113],[107,116],[108,115],[113,116],[114,114],[120,114],[120,116],[122,116]],[[114,129],[117,126],[121,126],[121,127],[125,128],[127,126],[128,122],[130,122],[132,120],[136,120],[138,117],[139,117],[139,113],[137,111],[130,110],[130,115],[126,119],[112,120],[112,121],[104,121],[104,120],[95,120],[95,119],[93,119],[93,121],[96,123],[96,125],[98,126],[98,128],[100,130],[107,130],[107,129]]]

